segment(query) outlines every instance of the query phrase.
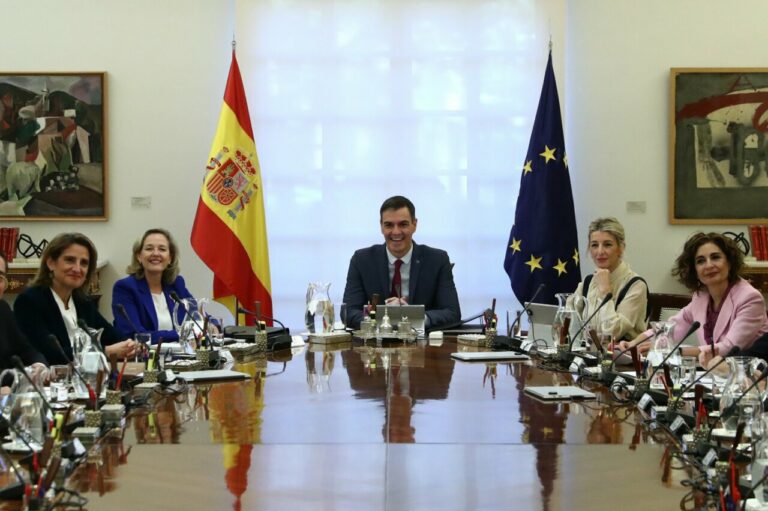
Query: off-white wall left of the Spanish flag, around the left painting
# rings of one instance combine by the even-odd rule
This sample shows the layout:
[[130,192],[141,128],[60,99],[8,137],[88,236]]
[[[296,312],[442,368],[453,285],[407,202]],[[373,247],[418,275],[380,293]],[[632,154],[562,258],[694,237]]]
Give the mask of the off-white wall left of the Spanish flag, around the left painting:
[[[12,15],[11,15],[12,13]],[[216,129],[234,26],[229,2],[36,0],[5,12],[3,71],[107,71],[107,222],[4,222],[35,241],[81,231],[108,258],[102,312],[133,241],[153,226],[181,246],[190,290],[210,296],[211,273],[189,245],[202,169]],[[149,196],[152,207],[131,209]]]

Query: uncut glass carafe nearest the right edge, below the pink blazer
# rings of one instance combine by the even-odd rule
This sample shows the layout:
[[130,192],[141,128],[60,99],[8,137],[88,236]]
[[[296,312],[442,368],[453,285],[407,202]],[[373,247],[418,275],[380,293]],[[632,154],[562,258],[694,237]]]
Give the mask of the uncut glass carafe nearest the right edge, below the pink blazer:
[[720,396],[723,428],[733,432],[739,423],[745,422],[744,434],[750,435],[752,421],[763,412],[760,390],[757,387],[749,389],[760,377],[757,369],[760,361],[754,357],[728,357],[725,361],[730,373]]

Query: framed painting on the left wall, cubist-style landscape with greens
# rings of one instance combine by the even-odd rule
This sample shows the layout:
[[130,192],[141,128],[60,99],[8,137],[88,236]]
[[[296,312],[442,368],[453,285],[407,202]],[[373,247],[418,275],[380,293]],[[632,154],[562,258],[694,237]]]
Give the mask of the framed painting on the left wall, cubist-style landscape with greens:
[[107,219],[105,77],[0,72],[0,219]]

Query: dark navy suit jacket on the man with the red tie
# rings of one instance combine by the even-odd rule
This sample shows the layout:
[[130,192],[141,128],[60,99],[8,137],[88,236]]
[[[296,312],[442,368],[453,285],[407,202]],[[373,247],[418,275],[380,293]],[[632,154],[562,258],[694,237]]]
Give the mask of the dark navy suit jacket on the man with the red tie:
[[[459,297],[447,252],[414,243],[409,279],[408,303],[424,305],[427,328],[439,328],[461,319]],[[363,305],[368,303],[371,295],[378,293],[384,299],[389,296],[390,288],[386,245],[373,245],[356,251],[349,262],[344,288],[349,326],[360,326]]]

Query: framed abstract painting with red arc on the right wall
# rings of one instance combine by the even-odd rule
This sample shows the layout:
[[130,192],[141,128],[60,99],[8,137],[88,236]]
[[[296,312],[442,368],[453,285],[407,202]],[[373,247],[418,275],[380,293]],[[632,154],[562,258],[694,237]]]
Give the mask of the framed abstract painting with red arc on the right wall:
[[768,223],[768,69],[672,68],[669,221]]

